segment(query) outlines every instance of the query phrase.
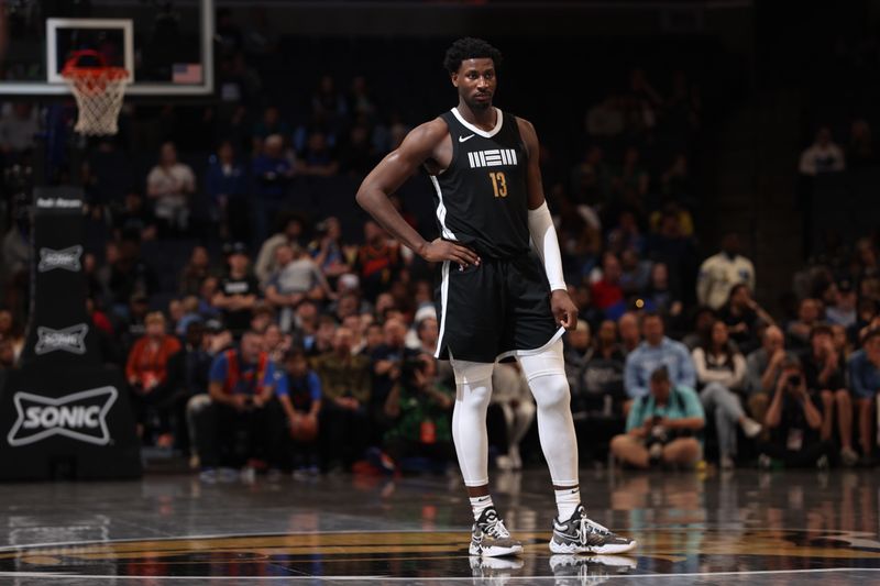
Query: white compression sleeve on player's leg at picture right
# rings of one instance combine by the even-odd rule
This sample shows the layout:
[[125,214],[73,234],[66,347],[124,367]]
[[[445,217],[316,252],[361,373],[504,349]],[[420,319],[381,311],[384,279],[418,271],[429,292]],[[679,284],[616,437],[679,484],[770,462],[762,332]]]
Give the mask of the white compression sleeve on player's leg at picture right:
[[519,356],[519,364],[538,403],[538,436],[556,486],[578,484],[578,436],[571,417],[562,340],[543,352]]

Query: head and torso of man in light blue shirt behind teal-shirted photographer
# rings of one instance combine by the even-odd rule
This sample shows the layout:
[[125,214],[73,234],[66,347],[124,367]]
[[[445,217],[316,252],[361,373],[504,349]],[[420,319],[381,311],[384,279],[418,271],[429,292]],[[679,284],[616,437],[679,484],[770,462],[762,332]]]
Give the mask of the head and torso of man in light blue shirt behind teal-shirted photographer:
[[663,318],[646,313],[641,323],[645,341],[626,357],[624,384],[630,399],[646,397],[650,390],[651,373],[666,366],[675,388],[696,387],[696,373],[691,353],[681,342],[670,340],[663,333]]

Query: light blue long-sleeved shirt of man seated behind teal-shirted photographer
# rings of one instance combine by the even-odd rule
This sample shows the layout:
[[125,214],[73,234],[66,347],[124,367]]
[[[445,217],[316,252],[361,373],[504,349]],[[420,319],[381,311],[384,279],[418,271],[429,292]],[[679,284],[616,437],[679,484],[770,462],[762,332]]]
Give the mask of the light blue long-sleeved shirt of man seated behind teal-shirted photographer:
[[626,357],[624,385],[627,395],[637,399],[648,395],[651,374],[666,366],[673,387],[696,387],[696,371],[688,346],[663,336],[658,346],[642,342]]

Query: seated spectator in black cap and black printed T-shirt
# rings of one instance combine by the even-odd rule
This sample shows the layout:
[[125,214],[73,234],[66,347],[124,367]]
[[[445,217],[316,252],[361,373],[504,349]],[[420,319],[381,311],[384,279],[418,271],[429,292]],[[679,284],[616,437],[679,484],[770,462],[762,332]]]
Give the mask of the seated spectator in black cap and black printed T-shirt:
[[220,279],[220,288],[211,305],[222,311],[223,323],[233,335],[239,336],[250,328],[260,289],[249,270],[250,259],[244,244],[231,244],[226,252],[229,272]]

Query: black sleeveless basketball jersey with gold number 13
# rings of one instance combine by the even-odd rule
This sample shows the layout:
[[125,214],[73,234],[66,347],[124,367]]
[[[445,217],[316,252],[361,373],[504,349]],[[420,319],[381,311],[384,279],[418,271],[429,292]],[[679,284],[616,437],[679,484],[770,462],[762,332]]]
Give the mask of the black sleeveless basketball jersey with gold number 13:
[[529,251],[527,154],[516,118],[496,109],[491,131],[458,109],[440,115],[452,139],[452,161],[431,175],[440,234],[481,256],[509,258]]

